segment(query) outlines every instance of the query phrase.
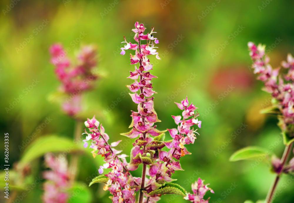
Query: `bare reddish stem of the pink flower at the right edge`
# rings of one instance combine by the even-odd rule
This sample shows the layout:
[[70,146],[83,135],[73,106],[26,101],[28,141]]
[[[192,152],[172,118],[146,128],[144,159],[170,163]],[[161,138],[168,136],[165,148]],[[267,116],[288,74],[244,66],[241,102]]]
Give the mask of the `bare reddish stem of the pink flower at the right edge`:
[[293,143],[291,143],[290,145],[286,146],[285,148],[285,151],[284,151],[284,154],[283,154],[283,157],[281,159],[281,166],[282,166],[282,170],[280,173],[277,174],[277,176],[275,177],[275,181],[272,185],[272,187],[270,188],[270,190],[268,191],[268,195],[265,199],[265,202],[266,203],[271,203],[273,202],[273,195],[275,194],[275,189],[277,188],[277,185],[278,185],[278,182],[280,180],[280,176],[281,174],[283,173],[283,168],[284,168],[284,165],[285,163],[287,162],[288,160],[288,157],[289,157],[289,154],[290,154],[290,151],[292,149],[292,146],[293,146]]

